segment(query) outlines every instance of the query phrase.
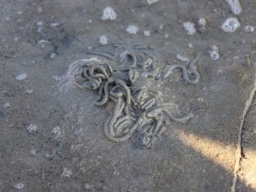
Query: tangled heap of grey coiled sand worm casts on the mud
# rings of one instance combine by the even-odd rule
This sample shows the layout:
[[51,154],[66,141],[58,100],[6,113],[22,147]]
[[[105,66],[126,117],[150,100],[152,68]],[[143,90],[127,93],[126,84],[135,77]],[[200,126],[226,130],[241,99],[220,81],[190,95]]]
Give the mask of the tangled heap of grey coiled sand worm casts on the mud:
[[[161,134],[166,129],[167,120],[186,122],[193,115],[182,117],[172,115],[172,102],[163,102],[161,92],[152,89],[145,81],[166,79],[175,68],[182,72],[184,81],[198,82],[195,59],[186,66],[170,65],[163,72],[157,60],[143,52],[125,51],[115,61],[91,58],[79,60],[70,67],[74,72],[74,84],[78,88],[98,90],[96,106],[104,106],[108,101],[115,103],[113,113],[104,125],[106,137],[121,142],[132,137],[135,130],[148,134]],[[112,67],[116,65],[116,69]]]

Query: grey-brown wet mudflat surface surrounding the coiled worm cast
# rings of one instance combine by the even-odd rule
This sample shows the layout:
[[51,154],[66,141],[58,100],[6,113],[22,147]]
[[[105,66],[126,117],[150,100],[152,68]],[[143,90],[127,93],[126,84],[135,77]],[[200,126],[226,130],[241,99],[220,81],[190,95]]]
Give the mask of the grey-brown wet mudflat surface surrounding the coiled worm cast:
[[[256,33],[244,27],[256,26],[256,4],[241,3],[234,15],[226,1],[1,0],[0,191],[255,191]],[[107,6],[115,20],[102,20]],[[234,33],[221,29],[228,17],[241,23]],[[184,22],[196,24],[194,35]],[[127,33],[129,25],[138,32]],[[108,44],[99,44],[102,35]],[[157,78],[141,75],[140,84],[176,104],[173,115],[193,114],[168,121],[146,147],[140,131],[108,140],[115,102],[95,106],[97,92],[77,88],[69,71],[93,57],[115,70],[124,51],[157,60]],[[177,55],[199,52],[198,83],[186,83],[180,70],[162,78],[164,68],[185,65]]]

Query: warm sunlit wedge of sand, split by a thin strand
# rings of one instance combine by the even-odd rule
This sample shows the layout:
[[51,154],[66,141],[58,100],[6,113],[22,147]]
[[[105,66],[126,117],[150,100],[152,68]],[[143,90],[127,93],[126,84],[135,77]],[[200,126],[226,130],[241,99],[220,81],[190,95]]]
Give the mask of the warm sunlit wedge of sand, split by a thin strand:
[[[185,133],[184,131],[175,130],[178,138],[184,145],[193,148],[196,152],[202,154],[207,159],[211,159],[214,163],[225,168],[229,173],[234,173],[234,163],[236,146],[225,145],[220,141],[214,141],[209,138],[197,136],[192,133]],[[256,152],[253,150],[246,150],[246,156],[241,159],[240,170],[238,177],[241,181],[256,189]]]

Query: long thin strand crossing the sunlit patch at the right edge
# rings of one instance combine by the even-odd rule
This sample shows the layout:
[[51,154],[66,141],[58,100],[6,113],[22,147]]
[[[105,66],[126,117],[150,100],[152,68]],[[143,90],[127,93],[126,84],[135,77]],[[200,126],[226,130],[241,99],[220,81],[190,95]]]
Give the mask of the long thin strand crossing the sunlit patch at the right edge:
[[248,114],[248,110],[250,109],[250,106],[253,102],[255,92],[256,92],[256,77],[254,77],[254,82],[253,82],[253,85],[252,85],[252,91],[250,92],[249,97],[245,102],[243,114],[242,114],[242,117],[241,117],[241,124],[240,124],[240,127],[239,127],[239,134],[238,134],[238,138],[237,138],[237,150],[236,150],[236,155],[235,155],[234,179],[233,179],[231,190],[230,190],[231,192],[236,191],[237,172],[239,171],[241,158],[243,157],[242,134],[243,134],[244,120],[246,119],[246,115]]

